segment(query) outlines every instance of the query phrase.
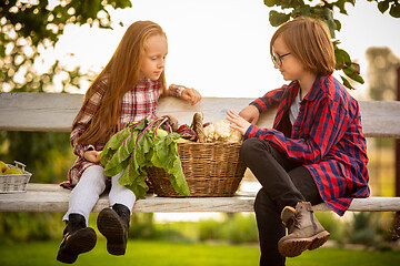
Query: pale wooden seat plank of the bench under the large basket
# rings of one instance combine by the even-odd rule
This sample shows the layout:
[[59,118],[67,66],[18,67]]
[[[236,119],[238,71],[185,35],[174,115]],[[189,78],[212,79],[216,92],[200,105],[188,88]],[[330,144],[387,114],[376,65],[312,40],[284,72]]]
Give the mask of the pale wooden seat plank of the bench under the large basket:
[[[70,191],[57,184],[28,184],[26,193],[0,194],[0,212],[67,212]],[[254,193],[237,193],[233,197],[158,197],[139,200],[136,213],[182,212],[253,212]],[[93,208],[100,212],[108,207],[107,195],[102,195]],[[314,211],[331,211],[326,204],[313,206]],[[349,211],[397,212],[400,197],[356,198]]]

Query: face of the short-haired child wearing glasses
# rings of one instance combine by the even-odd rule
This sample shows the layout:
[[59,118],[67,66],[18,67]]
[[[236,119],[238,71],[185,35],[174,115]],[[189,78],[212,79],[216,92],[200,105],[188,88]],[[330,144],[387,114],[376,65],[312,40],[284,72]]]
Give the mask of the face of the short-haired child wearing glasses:
[[281,35],[278,37],[272,44],[272,52],[276,53],[277,57],[284,55],[281,58],[281,65],[274,63],[274,68],[279,69],[286,81],[301,80],[307,71],[303,64],[288,49]]

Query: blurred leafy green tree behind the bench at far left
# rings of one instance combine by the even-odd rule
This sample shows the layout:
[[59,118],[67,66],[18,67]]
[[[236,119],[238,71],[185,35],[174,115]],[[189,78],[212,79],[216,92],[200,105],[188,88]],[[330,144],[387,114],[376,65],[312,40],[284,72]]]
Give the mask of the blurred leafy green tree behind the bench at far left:
[[[86,1],[0,1],[0,91],[44,92],[56,74],[64,73],[66,84],[79,88],[79,68],[68,70],[59,61],[44,73],[34,64],[46,49],[53,48],[67,24],[89,24],[110,28],[112,8],[131,7],[129,0]],[[64,167],[71,165],[68,133],[0,132],[0,157],[12,163],[21,161],[29,171],[41,173],[33,182],[66,180]],[[44,174],[43,172],[48,172]],[[46,176],[39,180],[39,176]]]

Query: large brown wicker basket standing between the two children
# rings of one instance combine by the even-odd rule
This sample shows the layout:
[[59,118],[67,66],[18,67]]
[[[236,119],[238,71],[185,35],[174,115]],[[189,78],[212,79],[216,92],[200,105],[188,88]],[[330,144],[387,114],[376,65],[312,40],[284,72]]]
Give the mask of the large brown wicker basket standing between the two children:
[[[243,178],[246,165],[239,157],[240,143],[178,143],[179,157],[190,196],[232,196]],[[169,175],[157,167],[147,168],[158,196],[181,197]]]

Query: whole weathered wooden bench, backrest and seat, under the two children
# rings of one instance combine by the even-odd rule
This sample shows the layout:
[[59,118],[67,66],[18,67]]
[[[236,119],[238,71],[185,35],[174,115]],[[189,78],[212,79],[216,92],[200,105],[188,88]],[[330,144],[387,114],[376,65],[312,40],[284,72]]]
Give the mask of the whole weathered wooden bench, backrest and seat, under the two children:
[[[180,124],[191,123],[197,111],[204,114],[206,122],[223,120],[228,110],[239,112],[252,99],[206,98],[194,106],[173,98],[162,99],[159,115],[174,115]],[[2,131],[53,131],[70,132],[72,120],[83,101],[81,94],[60,93],[0,93],[0,130]],[[361,101],[362,126],[367,137],[400,139],[400,102]],[[261,116],[259,125],[271,126],[274,113]],[[29,171],[29,167],[28,167]],[[34,182],[36,173],[31,181]],[[373,176],[372,176],[373,178]],[[2,212],[66,212],[70,191],[58,184],[28,184],[26,193],[0,194]],[[171,198],[148,196],[134,204],[133,212],[252,212],[254,193],[238,192],[232,197]],[[108,206],[102,195],[93,208],[99,212]],[[330,211],[322,203],[314,211]],[[349,211],[398,212],[400,197],[356,198]]]

